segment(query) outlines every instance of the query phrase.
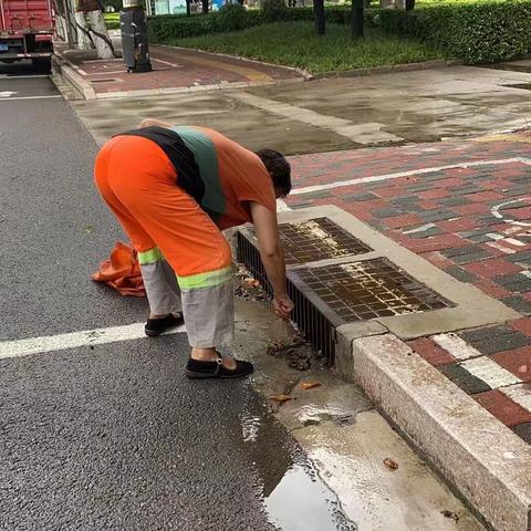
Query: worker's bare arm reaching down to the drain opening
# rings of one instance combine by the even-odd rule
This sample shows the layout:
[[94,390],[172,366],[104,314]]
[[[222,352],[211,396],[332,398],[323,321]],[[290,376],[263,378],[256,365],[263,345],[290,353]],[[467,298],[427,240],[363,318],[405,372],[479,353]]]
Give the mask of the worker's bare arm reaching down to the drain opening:
[[274,311],[288,319],[294,305],[285,289],[285,264],[280,242],[277,212],[263,205],[251,201],[251,216],[258,238],[258,248],[274,293]]

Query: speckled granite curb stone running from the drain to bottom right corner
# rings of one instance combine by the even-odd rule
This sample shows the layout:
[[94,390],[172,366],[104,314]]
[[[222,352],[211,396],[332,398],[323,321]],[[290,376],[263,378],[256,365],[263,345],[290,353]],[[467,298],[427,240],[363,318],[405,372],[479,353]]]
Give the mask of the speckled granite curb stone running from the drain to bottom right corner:
[[531,448],[395,335],[337,332],[352,345],[350,379],[494,529],[528,531]]

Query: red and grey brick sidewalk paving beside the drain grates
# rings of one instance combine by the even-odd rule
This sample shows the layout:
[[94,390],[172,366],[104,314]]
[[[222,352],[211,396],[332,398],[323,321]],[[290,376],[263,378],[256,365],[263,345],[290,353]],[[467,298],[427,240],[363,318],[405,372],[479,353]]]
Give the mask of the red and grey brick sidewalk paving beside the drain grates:
[[[529,393],[531,405],[531,388],[523,384],[531,382],[530,134],[494,136],[490,142],[445,142],[293,157],[294,194],[287,202],[293,209],[336,205],[520,312],[522,319],[504,327],[475,331],[481,341],[475,341],[473,334],[459,335],[477,350],[478,356],[496,362],[519,378],[522,384],[517,385],[523,386],[522,393]],[[529,165],[522,160],[528,157]],[[478,162],[481,164],[473,167],[416,173]],[[410,175],[393,175],[404,173]],[[382,175],[395,178],[326,187]],[[298,194],[310,186],[316,188]],[[531,442],[531,406],[517,404],[468,373],[433,339],[409,344]]]

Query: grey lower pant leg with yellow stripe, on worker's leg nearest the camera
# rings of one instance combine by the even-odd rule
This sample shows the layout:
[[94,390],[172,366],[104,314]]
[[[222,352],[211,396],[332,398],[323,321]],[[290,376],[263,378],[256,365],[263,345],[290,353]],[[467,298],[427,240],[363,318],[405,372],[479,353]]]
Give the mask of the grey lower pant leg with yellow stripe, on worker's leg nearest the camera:
[[177,280],[190,345],[209,348],[230,342],[235,333],[232,268]]

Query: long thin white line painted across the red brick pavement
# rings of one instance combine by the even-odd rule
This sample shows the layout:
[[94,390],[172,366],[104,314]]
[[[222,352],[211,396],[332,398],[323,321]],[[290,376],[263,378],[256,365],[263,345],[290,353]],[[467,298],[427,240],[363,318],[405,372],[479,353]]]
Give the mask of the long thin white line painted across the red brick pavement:
[[[496,160],[475,160],[472,163],[458,163],[458,164],[449,164],[447,166],[434,166],[431,168],[410,169],[408,171],[398,171],[396,174],[373,175],[369,177],[360,177],[357,179],[336,180],[334,183],[327,183],[325,185],[314,185],[314,186],[305,186],[303,188],[295,188],[294,190],[291,191],[291,195],[296,196],[301,194],[310,194],[312,191],[329,190],[331,188],[340,188],[342,186],[360,185],[363,183],[377,183],[379,180],[399,179],[400,177],[410,177],[413,175],[435,174],[437,171],[442,171],[445,169],[456,169],[456,168],[465,169],[465,168],[475,168],[478,166],[490,166],[490,165],[499,166],[503,164],[513,164],[513,163],[521,163],[521,164],[531,166],[531,158],[512,157],[512,158],[501,158]],[[510,201],[510,202],[514,202],[514,201]],[[502,205],[500,205],[499,207],[501,206]],[[497,216],[497,217],[501,217],[501,216]]]

